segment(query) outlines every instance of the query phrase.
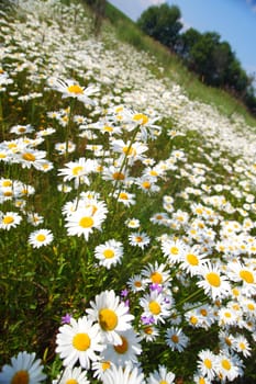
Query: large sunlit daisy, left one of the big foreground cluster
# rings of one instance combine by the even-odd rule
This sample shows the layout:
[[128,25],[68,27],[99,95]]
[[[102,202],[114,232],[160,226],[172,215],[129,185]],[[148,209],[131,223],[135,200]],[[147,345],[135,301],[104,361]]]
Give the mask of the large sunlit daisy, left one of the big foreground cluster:
[[90,362],[99,360],[101,335],[98,324],[92,324],[86,316],[78,320],[70,318],[70,324],[59,327],[56,338],[56,353],[64,359],[65,366],[73,368],[79,360],[81,368],[89,370]]

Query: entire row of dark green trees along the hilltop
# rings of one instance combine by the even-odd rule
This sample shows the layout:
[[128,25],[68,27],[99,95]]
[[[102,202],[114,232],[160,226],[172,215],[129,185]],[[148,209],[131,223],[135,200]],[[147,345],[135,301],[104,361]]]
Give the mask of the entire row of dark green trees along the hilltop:
[[225,89],[256,115],[254,78],[246,74],[231,45],[222,42],[218,33],[200,33],[192,27],[182,32],[180,9],[168,3],[146,9],[137,20],[137,25],[177,54],[201,81]]

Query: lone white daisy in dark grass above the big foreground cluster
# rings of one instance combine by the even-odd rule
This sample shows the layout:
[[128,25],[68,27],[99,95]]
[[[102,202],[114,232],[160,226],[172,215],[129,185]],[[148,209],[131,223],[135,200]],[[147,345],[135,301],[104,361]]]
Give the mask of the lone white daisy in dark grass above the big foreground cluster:
[[123,245],[115,239],[108,240],[103,245],[96,247],[94,257],[100,260],[100,266],[110,269],[112,266],[121,262],[123,257]]

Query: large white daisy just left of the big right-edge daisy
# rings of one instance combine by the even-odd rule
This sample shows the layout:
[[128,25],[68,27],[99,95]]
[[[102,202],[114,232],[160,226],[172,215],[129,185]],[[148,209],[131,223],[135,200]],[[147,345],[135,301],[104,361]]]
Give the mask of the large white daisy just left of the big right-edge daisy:
[[213,300],[230,295],[231,286],[227,278],[221,274],[218,266],[214,267],[208,262],[202,266],[200,274],[202,280],[197,282],[197,285],[202,287],[207,295]]

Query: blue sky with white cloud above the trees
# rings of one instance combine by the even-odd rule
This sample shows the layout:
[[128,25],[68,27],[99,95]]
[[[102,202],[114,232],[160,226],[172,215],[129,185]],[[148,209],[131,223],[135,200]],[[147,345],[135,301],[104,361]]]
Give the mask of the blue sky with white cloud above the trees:
[[[136,21],[148,7],[164,0],[109,0]],[[230,43],[242,67],[256,76],[256,0],[168,0],[179,7],[186,27],[218,32]]]

